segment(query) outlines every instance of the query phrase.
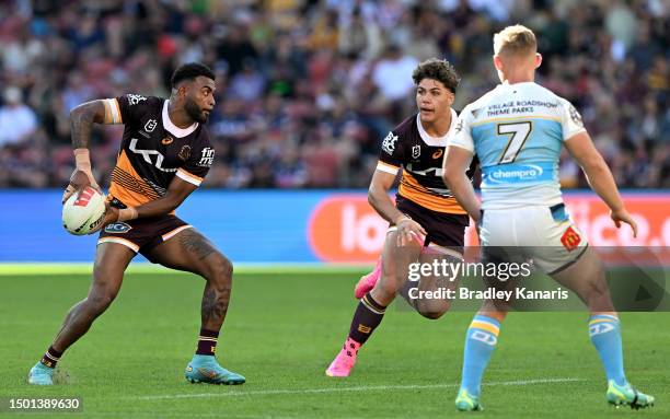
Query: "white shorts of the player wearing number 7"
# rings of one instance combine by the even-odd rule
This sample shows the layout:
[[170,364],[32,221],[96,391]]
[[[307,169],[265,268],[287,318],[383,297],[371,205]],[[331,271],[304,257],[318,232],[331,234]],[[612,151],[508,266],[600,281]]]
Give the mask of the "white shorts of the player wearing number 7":
[[[588,246],[563,203],[544,207],[486,210],[481,221],[480,242],[487,254],[522,256],[546,273],[556,273],[574,264]],[[495,246],[500,251],[488,252]],[[500,260],[503,261],[503,260]]]

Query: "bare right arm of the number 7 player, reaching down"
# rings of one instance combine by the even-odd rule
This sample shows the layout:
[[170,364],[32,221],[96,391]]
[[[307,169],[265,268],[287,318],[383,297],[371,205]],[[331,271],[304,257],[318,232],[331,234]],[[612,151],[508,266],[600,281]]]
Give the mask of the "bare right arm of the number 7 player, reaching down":
[[633,236],[637,236],[637,223],[626,211],[614,176],[588,132],[581,131],[570,137],[565,141],[565,148],[584,170],[591,189],[610,207],[610,217],[616,228],[621,228],[621,223],[625,222],[633,229]]

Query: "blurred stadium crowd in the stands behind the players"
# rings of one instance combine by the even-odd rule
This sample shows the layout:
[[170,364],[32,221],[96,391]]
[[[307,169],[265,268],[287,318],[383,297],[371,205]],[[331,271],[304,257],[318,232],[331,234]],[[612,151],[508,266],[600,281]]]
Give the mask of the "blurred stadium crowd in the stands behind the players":
[[[571,101],[621,187],[670,187],[663,0],[10,0],[0,2],[0,187],[62,187],[69,110],[169,95],[187,61],[217,73],[209,187],[366,187],[381,140],[414,112],[412,70],[450,60],[455,108],[497,78],[492,34],[532,27],[541,84]],[[97,129],[108,185],[123,127]],[[586,179],[571,160],[566,187]]]

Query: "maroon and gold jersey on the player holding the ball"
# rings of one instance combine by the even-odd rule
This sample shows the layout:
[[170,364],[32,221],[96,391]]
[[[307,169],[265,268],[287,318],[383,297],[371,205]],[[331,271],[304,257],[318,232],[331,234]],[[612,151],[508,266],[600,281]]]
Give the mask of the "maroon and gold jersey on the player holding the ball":
[[109,199],[139,206],[165,195],[174,176],[199,186],[215,150],[198,123],[178,128],[168,115],[170,101],[127,94],[103,101],[105,123],[124,124],[124,138],[112,172]]

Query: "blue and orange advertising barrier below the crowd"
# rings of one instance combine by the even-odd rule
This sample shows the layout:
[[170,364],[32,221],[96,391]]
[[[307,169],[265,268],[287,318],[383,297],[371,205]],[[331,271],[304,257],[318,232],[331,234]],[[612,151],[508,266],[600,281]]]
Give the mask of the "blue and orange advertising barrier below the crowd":
[[[0,261],[91,261],[95,237],[61,226],[60,190],[0,190]],[[564,194],[570,216],[594,246],[670,247],[670,191],[624,194],[639,234],[614,228],[594,195]],[[233,261],[373,263],[388,223],[366,191],[198,190],[177,216]],[[476,244],[470,229],[466,244]],[[666,251],[667,252],[667,251]]]

